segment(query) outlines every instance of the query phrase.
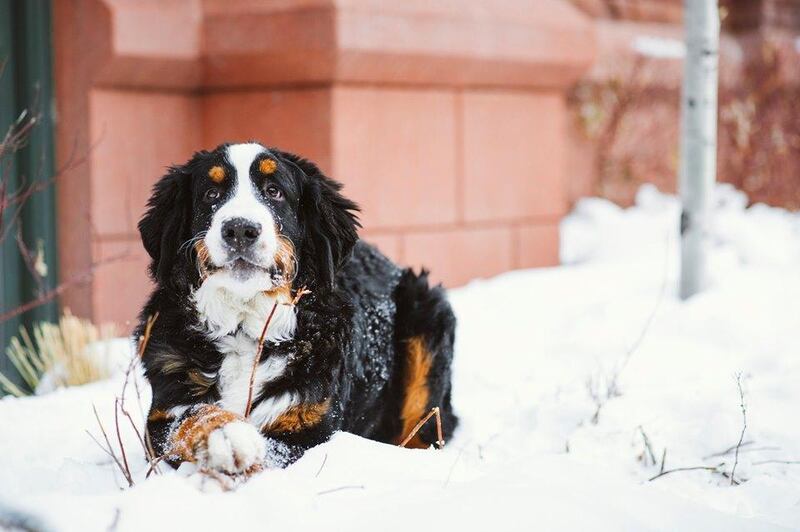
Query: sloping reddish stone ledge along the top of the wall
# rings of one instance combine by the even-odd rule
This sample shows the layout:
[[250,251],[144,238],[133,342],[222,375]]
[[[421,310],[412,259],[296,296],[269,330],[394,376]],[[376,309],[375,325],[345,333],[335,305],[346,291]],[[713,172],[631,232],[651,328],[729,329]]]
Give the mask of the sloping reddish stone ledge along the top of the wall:
[[594,60],[592,21],[567,0],[84,1],[92,80],[119,88],[558,88]]

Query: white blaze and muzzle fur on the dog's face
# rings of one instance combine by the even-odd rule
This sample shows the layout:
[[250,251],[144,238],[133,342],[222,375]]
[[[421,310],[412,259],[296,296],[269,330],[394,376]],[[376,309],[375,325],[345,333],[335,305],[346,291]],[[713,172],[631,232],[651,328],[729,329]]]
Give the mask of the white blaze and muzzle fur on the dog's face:
[[[225,157],[233,166],[233,193],[219,205],[211,218],[211,227],[204,239],[211,262],[218,267],[228,261],[228,253],[222,239],[222,225],[233,218],[244,218],[261,225],[261,234],[254,244],[255,257],[259,266],[273,265],[278,250],[278,235],[275,233],[275,219],[269,208],[259,200],[259,194],[253,187],[250,178],[250,167],[253,161],[265,151],[260,144],[232,144],[228,146]],[[270,283],[268,275],[264,275]],[[234,281],[234,279],[231,279]]]

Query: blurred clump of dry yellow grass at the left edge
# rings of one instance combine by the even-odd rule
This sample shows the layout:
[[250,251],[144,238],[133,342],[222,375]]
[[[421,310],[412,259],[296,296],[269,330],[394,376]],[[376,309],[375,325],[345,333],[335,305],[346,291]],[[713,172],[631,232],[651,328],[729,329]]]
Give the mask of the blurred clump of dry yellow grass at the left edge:
[[[57,324],[38,323],[32,333],[33,337],[20,327],[19,335],[11,339],[6,349],[9,360],[31,392],[36,391],[45,376],[53,380],[54,387],[77,386],[110,376],[107,365],[91,356],[87,348],[99,340],[112,338],[113,327],[97,327],[65,310]],[[30,394],[2,374],[0,385],[17,397]]]

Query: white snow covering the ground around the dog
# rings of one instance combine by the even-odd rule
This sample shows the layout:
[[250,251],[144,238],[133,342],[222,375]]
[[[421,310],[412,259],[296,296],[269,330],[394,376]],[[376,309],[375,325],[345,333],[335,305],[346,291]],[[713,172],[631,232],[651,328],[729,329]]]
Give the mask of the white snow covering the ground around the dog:
[[[117,378],[0,400],[0,515],[76,531],[800,529],[800,215],[745,204],[718,189],[714,282],[688,302],[678,205],[651,187],[627,210],[580,202],[564,266],[453,290],[462,426],[443,451],[339,434],[223,492],[191,468],[144,480],[126,430],[123,489],[85,432],[92,404],[113,427]],[[648,481],[664,456],[718,467]]]

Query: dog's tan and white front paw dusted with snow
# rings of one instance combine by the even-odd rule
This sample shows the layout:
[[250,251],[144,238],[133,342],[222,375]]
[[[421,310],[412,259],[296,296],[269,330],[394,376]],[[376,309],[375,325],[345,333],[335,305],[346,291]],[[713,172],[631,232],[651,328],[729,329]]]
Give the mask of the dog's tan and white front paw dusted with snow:
[[258,469],[266,443],[253,425],[217,406],[195,408],[172,434],[173,455],[204,469],[240,474]]

